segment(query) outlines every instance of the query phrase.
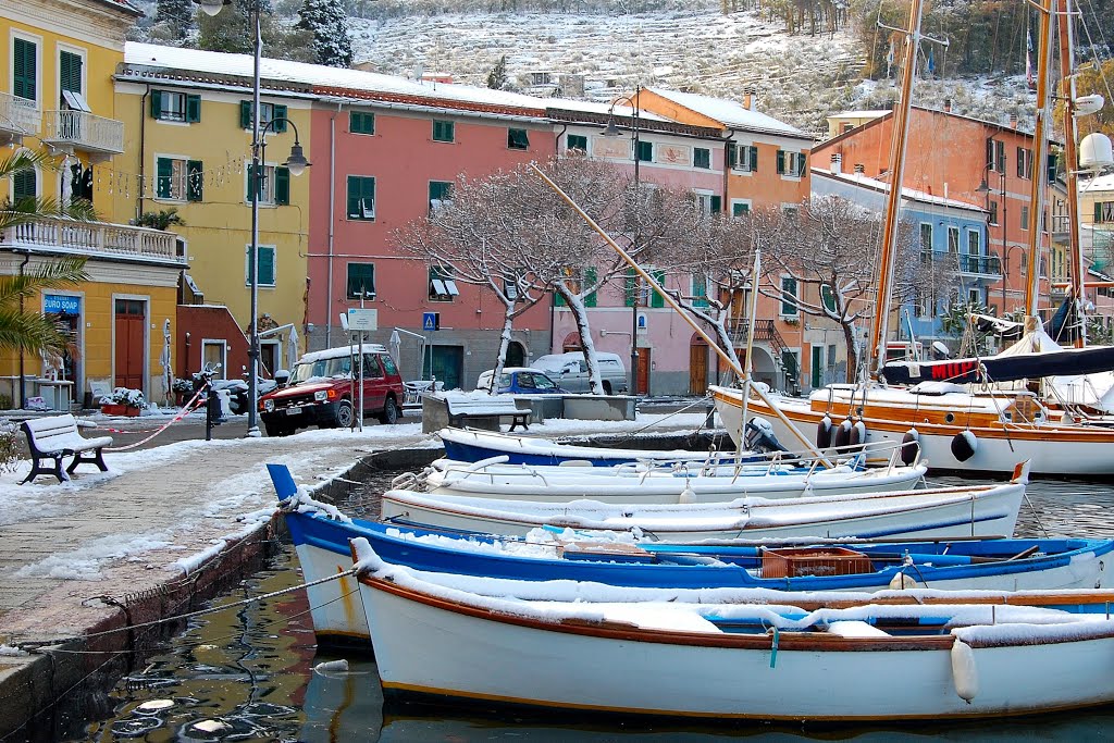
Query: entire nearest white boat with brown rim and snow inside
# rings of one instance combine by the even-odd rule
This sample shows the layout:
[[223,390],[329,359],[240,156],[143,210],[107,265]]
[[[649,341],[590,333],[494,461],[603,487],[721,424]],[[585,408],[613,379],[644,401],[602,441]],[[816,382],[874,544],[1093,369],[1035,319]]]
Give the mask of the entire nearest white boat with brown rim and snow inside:
[[[715,720],[939,720],[1114,701],[1105,614],[805,609],[736,589],[418,574],[353,550],[384,694]],[[745,599],[744,599],[745,600]]]

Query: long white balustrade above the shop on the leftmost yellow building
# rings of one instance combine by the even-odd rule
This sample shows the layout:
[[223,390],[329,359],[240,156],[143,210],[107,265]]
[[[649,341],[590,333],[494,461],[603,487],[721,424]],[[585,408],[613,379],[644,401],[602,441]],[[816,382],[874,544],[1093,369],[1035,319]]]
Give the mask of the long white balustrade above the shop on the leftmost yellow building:
[[185,265],[173,232],[104,222],[36,219],[0,233],[0,247],[53,248],[91,257],[113,256]]

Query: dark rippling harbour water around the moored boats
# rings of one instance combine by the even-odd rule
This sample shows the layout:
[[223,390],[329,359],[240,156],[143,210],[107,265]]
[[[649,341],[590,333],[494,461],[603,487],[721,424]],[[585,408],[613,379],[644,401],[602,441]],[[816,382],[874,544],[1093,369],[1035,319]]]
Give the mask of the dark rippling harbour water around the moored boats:
[[[350,514],[374,517],[378,492],[393,472],[353,487]],[[957,478],[932,482],[958,483]],[[1023,505],[1018,536],[1105,537],[1114,487],[1067,480],[1036,480]],[[240,602],[301,581],[297,558],[281,545],[270,569],[214,605]],[[348,672],[315,671],[339,658]],[[477,669],[482,673],[482,669]],[[663,669],[667,672],[667,669]],[[1034,668],[1033,673],[1039,673]],[[1114,667],[1112,667],[1114,673]],[[854,683],[833,678],[833,684]],[[900,678],[893,680],[900,684]],[[84,705],[88,708],[90,705]],[[71,741],[889,741],[942,737],[986,741],[1106,740],[1114,705],[1016,720],[915,726],[831,726],[694,721],[652,721],[578,713],[532,715],[521,711],[466,711],[391,702],[384,705],[374,661],[358,654],[319,652],[305,593],[297,590],[194,620],[162,654],[144,658],[99,706],[100,720],[59,721]]]

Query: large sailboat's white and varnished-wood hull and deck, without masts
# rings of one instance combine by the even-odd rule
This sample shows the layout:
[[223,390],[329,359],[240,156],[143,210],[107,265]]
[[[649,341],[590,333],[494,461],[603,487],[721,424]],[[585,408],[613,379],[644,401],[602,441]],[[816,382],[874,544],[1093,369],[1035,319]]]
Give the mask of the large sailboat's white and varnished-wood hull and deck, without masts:
[[[710,390],[724,428],[736,438],[742,390]],[[1028,459],[1036,475],[1114,473],[1114,429],[1051,420],[1048,410],[1027,391],[973,393],[940,383],[863,391],[832,384],[808,398],[772,392],[765,398],[769,403],[759,398],[746,401],[747,418],[764,418],[780,438],[795,440],[791,423],[821,448],[837,442],[837,429],[849,421],[847,426],[853,426],[849,443],[915,442],[910,452],[919,449],[934,470],[1008,472],[1019,459]]]

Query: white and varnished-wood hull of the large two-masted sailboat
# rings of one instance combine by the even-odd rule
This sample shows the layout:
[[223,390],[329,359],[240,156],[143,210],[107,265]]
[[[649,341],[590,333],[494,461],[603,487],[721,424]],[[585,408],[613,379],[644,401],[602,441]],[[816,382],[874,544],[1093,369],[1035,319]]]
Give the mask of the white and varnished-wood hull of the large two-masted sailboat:
[[[742,418],[741,391],[713,388],[713,394],[724,428],[736,438]],[[828,414],[823,408],[800,398],[773,393],[768,398],[801,436],[815,441],[817,429]],[[797,434],[764,401],[751,399],[746,407],[747,418],[764,418],[783,441],[798,440]],[[829,414],[833,424],[838,426],[843,420],[846,407],[833,405]],[[1114,473],[1114,457],[1111,456],[1114,452],[1114,430],[1111,429],[1053,423],[1005,426],[990,423],[985,418],[968,427],[959,408],[952,412],[910,408],[901,411],[900,417],[891,418],[877,417],[871,410],[868,405],[862,416],[866,443],[879,448],[899,446],[909,430],[915,428],[921,461],[930,470],[1010,472],[1019,461],[1027,459],[1033,475],[1100,477]],[[945,421],[948,414],[954,418],[950,423]],[[952,441],[964,431],[970,431],[977,444],[971,456],[961,460],[952,452]]]

